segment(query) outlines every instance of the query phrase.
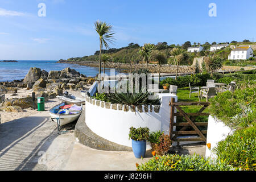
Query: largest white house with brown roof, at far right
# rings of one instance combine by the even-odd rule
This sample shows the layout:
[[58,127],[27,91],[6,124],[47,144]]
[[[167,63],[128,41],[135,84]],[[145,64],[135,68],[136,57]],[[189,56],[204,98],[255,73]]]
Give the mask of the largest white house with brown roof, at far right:
[[243,46],[234,48],[230,55],[230,60],[246,60],[253,57],[253,49],[251,46]]

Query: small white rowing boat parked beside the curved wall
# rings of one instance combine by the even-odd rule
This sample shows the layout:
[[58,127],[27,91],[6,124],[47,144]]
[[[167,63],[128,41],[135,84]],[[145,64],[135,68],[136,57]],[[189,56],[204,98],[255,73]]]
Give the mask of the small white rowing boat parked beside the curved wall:
[[59,126],[76,121],[80,117],[82,110],[83,107],[81,103],[70,105],[67,102],[63,102],[52,107],[52,109],[49,110],[49,115],[52,121],[57,123],[59,129]]

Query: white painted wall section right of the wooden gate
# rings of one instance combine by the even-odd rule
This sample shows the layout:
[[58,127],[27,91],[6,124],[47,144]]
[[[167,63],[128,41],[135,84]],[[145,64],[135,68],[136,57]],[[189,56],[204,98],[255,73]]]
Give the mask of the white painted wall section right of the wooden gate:
[[206,147],[205,158],[216,158],[213,148],[217,146],[217,143],[224,140],[228,135],[232,134],[233,130],[228,126],[225,126],[223,122],[218,121],[209,115],[208,130],[207,130],[207,143],[210,143],[210,149]]

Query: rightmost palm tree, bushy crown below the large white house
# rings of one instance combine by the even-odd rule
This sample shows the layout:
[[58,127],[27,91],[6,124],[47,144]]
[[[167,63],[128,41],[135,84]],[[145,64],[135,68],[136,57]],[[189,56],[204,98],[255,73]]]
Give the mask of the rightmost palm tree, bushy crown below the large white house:
[[224,59],[220,56],[209,56],[207,59],[205,59],[205,67],[210,71],[210,76],[213,75],[213,72],[217,69],[222,68],[222,64],[224,62]]

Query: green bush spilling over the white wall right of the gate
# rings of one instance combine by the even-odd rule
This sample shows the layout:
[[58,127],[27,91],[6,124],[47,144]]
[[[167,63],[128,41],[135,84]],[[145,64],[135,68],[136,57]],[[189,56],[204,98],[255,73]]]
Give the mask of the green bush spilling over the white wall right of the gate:
[[256,88],[237,89],[234,93],[218,93],[210,99],[209,112],[226,126],[245,128],[255,125],[256,121]]

